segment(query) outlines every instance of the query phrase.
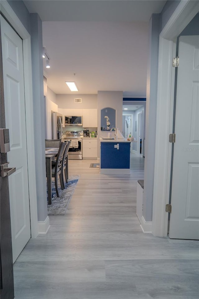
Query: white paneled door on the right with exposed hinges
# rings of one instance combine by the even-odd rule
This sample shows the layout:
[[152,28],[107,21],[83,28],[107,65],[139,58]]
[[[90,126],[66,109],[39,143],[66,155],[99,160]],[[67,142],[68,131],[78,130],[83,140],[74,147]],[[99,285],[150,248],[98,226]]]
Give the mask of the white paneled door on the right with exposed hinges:
[[199,239],[199,36],[179,38],[169,237]]

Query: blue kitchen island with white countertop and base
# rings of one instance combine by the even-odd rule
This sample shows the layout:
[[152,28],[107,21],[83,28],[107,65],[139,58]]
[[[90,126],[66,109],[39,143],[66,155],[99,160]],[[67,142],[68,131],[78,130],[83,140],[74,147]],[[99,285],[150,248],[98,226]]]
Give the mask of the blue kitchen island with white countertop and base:
[[100,173],[130,173],[130,141],[100,138]]

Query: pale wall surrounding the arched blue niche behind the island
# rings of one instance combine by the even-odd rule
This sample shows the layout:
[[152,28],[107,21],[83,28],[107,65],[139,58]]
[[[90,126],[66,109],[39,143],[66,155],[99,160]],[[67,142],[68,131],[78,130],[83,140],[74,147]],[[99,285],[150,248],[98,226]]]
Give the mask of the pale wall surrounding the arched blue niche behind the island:
[[[101,109],[110,107],[116,110],[116,128],[122,132],[123,91],[98,91],[97,94],[97,123],[98,136],[107,137],[108,131],[101,131]],[[99,140],[98,140],[99,158]]]

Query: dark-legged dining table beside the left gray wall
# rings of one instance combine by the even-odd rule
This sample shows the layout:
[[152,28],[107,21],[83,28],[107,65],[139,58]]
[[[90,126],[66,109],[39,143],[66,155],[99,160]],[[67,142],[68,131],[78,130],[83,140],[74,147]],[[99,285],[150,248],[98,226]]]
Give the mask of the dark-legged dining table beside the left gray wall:
[[46,157],[46,178],[48,190],[48,204],[52,204],[52,161],[56,159],[59,148],[45,148]]

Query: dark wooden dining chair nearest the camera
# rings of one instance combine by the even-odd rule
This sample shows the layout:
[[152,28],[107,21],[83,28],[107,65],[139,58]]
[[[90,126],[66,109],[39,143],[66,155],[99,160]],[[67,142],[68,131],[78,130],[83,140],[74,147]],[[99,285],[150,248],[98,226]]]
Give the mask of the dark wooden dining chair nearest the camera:
[[55,178],[55,189],[56,189],[57,197],[59,197],[58,176],[59,176],[61,188],[62,190],[64,189],[63,180],[62,180],[62,162],[63,162],[66,146],[67,144],[65,142],[60,143],[55,166],[52,165],[52,178]]

